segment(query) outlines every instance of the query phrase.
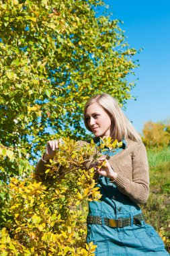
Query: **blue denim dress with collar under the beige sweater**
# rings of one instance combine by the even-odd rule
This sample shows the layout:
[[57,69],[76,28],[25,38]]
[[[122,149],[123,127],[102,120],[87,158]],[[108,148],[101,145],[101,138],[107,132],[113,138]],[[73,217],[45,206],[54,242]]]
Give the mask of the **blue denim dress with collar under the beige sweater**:
[[[99,139],[95,139],[99,146]],[[113,156],[126,147],[123,141],[122,148],[116,152],[105,151],[102,154]],[[100,176],[97,181],[102,197],[100,201],[89,202],[89,216],[100,216],[101,224],[87,224],[87,243],[93,241],[97,245],[95,256],[136,256],[136,255],[169,255],[164,243],[155,229],[145,224],[144,220],[133,224],[133,216],[142,213],[140,207],[123,195],[107,177]],[[106,226],[104,218],[130,218],[130,226],[112,228]]]

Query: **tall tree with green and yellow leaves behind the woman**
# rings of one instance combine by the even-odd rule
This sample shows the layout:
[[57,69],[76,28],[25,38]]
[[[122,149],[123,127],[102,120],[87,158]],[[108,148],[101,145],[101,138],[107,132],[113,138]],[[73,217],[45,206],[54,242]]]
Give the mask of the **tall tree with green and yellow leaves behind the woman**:
[[122,105],[131,97],[134,83],[127,76],[136,67],[136,51],[118,20],[97,17],[101,5],[97,0],[0,1],[2,180],[29,171],[28,160],[52,139],[49,127],[55,137],[87,137],[82,111],[89,96],[108,92]]

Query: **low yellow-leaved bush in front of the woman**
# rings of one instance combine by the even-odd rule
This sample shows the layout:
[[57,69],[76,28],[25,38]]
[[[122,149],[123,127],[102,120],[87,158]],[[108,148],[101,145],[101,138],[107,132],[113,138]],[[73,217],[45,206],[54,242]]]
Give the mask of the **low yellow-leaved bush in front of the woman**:
[[93,168],[84,168],[94,150],[93,143],[82,145],[65,138],[47,166],[46,181],[10,179],[1,220],[1,255],[95,253],[93,243],[85,245],[87,201],[101,195]]

